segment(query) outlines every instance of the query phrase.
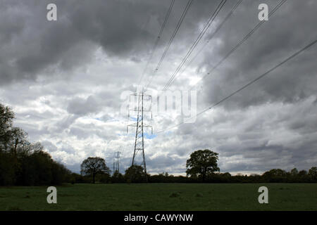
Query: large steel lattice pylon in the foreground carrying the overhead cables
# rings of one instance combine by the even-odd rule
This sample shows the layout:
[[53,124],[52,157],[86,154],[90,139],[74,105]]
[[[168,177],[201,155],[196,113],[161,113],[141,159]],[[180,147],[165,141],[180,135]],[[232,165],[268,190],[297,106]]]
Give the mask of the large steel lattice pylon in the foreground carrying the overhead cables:
[[[144,109],[144,101],[149,101],[152,100],[152,96],[144,94],[144,91],[137,91],[135,94],[131,94],[131,96],[136,96],[137,98],[137,107],[130,109],[129,108],[129,113],[128,117],[130,117],[130,110],[136,111],[137,112],[137,122],[134,124],[129,124],[127,127],[127,133],[129,127],[136,127],[135,129],[135,150],[133,152],[133,158],[132,158],[132,165],[136,165],[136,158],[137,158],[137,153],[141,152],[142,153],[142,165],[144,167],[144,172],[147,174],[147,164],[145,162],[145,153],[144,153],[144,127],[151,127],[147,124],[144,124],[144,113],[151,112],[150,109]],[[144,99],[147,98],[147,99]],[[131,100],[131,98],[130,98]],[[151,113],[152,117],[152,113]],[[153,134],[153,127],[151,127],[151,134]]]

